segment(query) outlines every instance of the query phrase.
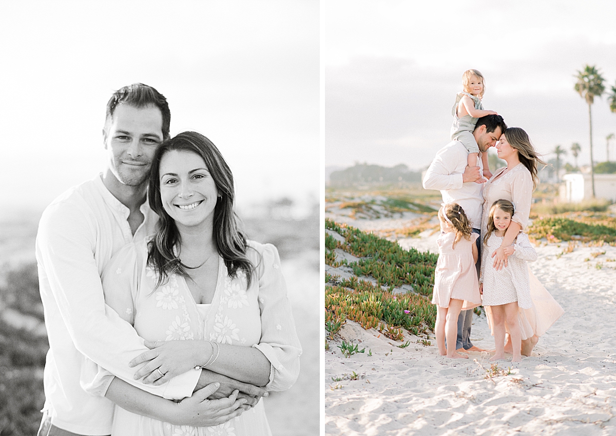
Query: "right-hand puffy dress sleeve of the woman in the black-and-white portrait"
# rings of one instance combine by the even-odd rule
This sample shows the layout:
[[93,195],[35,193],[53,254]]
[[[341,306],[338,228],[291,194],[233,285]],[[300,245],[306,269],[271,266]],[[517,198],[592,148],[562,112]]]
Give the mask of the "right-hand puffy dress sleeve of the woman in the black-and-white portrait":
[[253,347],[270,361],[269,383],[265,389],[285,390],[298,378],[302,349],[295,331],[278,250],[272,244],[265,244],[261,256],[261,264],[257,266],[261,340]]

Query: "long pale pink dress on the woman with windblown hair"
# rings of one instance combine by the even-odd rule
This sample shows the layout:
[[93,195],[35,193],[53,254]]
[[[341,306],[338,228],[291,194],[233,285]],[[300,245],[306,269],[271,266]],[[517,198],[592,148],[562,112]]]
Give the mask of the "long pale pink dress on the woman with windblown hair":
[[[482,238],[487,232],[488,216],[492,203],[501,198],[513,203],[514,214],[511,220],[521,225],[522,231],[525,230],[529,222],[530,204],[532,204],[533,179],[530,171],[524,164],[517,164],[510,171],[498,177],[506,168],[497,169],[493,176],[484,184],[484,214],[481,220]],[[498,177],[498,179],[496,179]],[[482,241],[483,243],[483,241]],[[485,248],[485,245],[482,246]],[[482,268],[486,262],[493,262],[492,252],[482,249]],[[530,298],[532,307],[530,309],[519,308],[519,324],[522,331],[522,339],[529,339],[533,335],[541,336],[554,322],[561,317],[565,311],[561,305],[554,300],[547,289],[541,285],[537,277],[533,275],[529,267]],[[485,293],[485,289],[484,289]],[[485,306],[485,315],[488,324],[492,327],[492,312],[489,306]]]

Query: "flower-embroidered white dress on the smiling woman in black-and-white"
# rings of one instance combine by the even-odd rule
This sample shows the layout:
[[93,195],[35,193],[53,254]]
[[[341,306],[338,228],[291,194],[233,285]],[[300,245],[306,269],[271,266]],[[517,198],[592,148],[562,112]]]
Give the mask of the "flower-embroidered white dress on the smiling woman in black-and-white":
[[[272,244],[248,241],[248,245],[246,255],[256,265],[257,277],[247,288],[246,275],[240,272],[236,278],[230,278],[224,260],[219,259],[216,291],[205,319],[184,277],[171,275],[167,283],[155,288],[156,273],[146,265],[145,241],[128,244],[111,259],[103,272],[105,302],[148,341],[209,339],[259,349],[271,364],[265,389],[288,389],[299,374],[301,346],[280,258]],[[263,401],[216,427],[174,426],[116,406],[112,434],[270,435]]]

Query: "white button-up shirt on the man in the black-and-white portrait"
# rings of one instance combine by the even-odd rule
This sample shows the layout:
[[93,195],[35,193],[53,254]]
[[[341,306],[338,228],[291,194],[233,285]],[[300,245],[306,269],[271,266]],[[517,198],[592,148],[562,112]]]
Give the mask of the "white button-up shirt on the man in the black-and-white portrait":
[[[44,371],[45,406],[51,422],[86,435],[111,433],[113,403],[87,394],[97,363],[115,376],[165,398],[192,395],[200,371],[188,371],[161,386],[133,379],[132,358],[148,350],[132,326],[105,304],[100,275],[129,241],[153,233],[156,215],[147,201],[144,222],[132,235],[129,209],[102,181],[102,175],[71,188],[43,212],[36,235],[39,288],[49,352]],[[111,378],[104,390],[106,392]]]

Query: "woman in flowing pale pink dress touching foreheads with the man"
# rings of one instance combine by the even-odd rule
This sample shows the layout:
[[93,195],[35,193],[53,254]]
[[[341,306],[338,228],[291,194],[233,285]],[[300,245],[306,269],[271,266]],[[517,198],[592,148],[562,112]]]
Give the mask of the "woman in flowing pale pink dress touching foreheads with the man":
[[[529,135],[519,127],[508,127],[496,144],[498,157],[507,163],[500,168],[484,185],[484,214],[481,220],[481,234],[487,232],[490,206],[501,198],[509,200],[514,205],[514,215],[505,233],[501,246],[493,252],[482,250],[482,265],[493,262],[495,268],[506,267],[507,256],[505,248],[511,246],[519,232],[524,230],[529,222],[532,193],[537,186],[537,165],[543,163]],[[561,317],[564,310],[546,291],[529,269],[530,296],[532,307],[519,309],[519,321],[522,331],[522,355],[530,356],[539,336]],[[539,309],[539,310],[538,310]],[[488,323],[492,326],[492,313],[486,307]],[[505,346],[505,351],[511,353],[511,342]]]

